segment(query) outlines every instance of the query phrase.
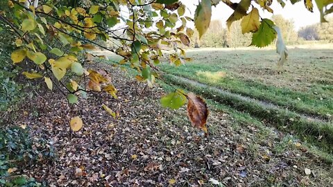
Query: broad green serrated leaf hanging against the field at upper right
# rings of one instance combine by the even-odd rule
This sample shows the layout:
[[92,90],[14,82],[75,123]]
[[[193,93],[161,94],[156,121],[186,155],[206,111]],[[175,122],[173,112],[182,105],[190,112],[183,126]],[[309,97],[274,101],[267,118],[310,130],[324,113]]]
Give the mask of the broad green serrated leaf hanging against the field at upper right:
[[259,30],[253,33],[251,46],[264,47],[271,44],[276,37],[273,28],[274,23],[270,19],[262,19]]

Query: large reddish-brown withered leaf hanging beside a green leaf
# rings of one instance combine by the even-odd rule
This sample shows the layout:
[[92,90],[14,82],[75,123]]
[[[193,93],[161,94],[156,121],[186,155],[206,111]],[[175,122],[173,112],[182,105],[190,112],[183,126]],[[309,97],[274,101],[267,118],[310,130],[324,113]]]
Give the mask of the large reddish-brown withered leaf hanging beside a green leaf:
[[201,128],[207,134],[206,120],[208,109],[205,101],[193,93],[187,94],[187,116],[194,127]]

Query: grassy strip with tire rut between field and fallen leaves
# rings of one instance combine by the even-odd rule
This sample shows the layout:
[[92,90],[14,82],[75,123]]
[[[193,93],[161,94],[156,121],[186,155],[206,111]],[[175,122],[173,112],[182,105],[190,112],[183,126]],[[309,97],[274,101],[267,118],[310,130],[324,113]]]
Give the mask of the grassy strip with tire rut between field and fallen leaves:
[[205,98],[210,98],[224,105],[234,107],[239,111],[247,112],[262,121],[272,123],[284,131],[296,132],[296,134],[302,136],[305,140],[316,141],[320,144],[319,146],[328,150],[330,154],[333,154],[333,124],[331,122],[291,112],[278,105],[233,94],[176,75],[163,75],[163,77],[172,84],[194,91],[197,94],[205,96]]

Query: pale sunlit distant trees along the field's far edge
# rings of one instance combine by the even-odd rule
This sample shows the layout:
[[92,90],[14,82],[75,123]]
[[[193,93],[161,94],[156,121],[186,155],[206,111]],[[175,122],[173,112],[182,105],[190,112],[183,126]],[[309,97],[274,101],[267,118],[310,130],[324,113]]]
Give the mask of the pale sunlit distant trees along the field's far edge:
[[[274,15],[272,20],[282,31],[286,44],[300,44],[304,40],[327,40],[333,42],[333,21],[323,24],[314,24],[300,28],[296,31],[291,20],[284,19],[282,15]],[[212,20],[207,33],[202,39],[198,39],[198,33],[191,37],[192,46],[198,44],[200,47],[241,47],[251,43],[252,34],[241,33],[239,21],[234,21],[230,29],[225,28],[221,21]]]

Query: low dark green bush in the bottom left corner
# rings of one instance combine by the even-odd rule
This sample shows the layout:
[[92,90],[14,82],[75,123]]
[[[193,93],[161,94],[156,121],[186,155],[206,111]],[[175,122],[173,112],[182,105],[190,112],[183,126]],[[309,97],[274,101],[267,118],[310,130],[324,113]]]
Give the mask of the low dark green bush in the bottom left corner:
[[[34,143],[40,146],[36,147]],[[8,127],[0,130],[0,186],[42,186],[33,178],[17,174],[33,161],[53,157],[53,147],[44,140],[31,141],[28,128]]]

